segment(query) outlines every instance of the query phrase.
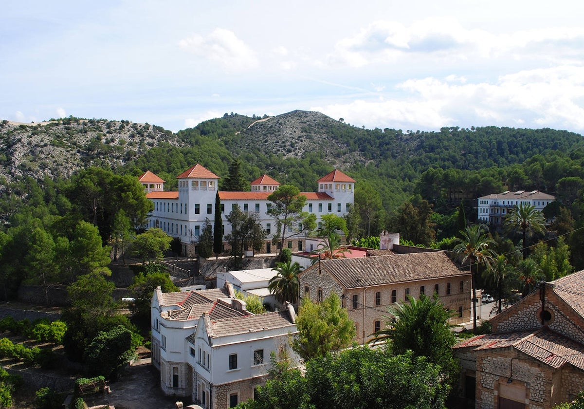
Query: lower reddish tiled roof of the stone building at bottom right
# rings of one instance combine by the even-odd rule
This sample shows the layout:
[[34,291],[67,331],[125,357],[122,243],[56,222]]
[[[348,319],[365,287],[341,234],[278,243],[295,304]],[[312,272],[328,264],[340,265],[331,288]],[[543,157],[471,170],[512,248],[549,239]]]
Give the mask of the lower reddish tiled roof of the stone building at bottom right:
[[453,346],[454,349],[468,347],[474,351],[512,347],[552,368],[570,363],[584,370],[584,345],[545,327],[533,332],[477,335]]

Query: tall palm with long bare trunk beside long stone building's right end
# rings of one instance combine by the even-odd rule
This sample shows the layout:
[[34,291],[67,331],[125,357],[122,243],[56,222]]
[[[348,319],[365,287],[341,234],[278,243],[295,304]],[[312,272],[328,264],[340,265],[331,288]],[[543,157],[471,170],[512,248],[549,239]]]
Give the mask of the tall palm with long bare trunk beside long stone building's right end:
[[[489,249],[489,245],[495,244],[495,241],[489,237],[485,231],[486,227],[484,224],[475,224],[474,226],[468,226],[465,230],[461,230],[460,238],[454,240],[457,245],[454,247],[453,251],[462,257],[462,264],[467,261],[470,262],[471,269],[471,283],[472,283],[472,328],[477,329],[477,272],[478,264],[486,263],[490,264],[492,258],[492,251]],[[472,271],[472,266],[475,266],[474,271]]]

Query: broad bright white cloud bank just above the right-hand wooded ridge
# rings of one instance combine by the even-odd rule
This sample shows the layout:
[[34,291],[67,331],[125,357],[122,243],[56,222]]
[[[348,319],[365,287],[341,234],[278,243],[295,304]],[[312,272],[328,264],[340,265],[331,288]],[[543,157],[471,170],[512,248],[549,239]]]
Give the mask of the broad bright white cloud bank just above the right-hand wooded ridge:
[[525,70],[504,75],[492,84],[456,82],[450,77],[408,79],[395,91],[403,95],[314,109],[366,127],[496,125],[584,131],[584,67]]

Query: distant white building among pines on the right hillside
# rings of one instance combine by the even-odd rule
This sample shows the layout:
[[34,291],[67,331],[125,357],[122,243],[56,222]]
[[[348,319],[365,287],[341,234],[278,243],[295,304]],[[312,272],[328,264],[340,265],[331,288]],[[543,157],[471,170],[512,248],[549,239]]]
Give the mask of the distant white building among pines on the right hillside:
[[531,190],[530,192],[505,190],[505,192],[496,195],[482,196],[478,198],[478,220],[493,226],[502,226],[505,216],[513,207],[517,207],[519,204],[531,204],[541,212],[554,200],[555,196],[539,190]]

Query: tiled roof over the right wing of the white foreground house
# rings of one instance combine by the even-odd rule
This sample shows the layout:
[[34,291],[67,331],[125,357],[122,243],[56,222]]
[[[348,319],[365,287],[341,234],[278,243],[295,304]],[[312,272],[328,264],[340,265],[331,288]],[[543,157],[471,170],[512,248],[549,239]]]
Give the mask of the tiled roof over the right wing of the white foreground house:
[[225,337],[227,335],[247,334],[274,328],[295,328],[287,311],[258,314],[256,316],[244,316],[226,318],[224,320],[211,321],[213,337]]

